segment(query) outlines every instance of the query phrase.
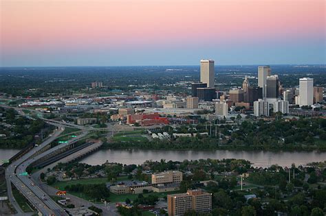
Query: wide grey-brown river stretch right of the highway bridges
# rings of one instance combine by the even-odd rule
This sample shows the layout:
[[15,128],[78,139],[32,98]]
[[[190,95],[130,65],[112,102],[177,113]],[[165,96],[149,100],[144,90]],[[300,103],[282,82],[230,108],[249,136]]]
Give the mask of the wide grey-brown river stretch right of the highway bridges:
[[290,166],[294,163],[306,165],[309,162],[325,161],[326,152],[267,152],[267,151],[194,151],[194,150],[144,150],[144,149],[102,149],[80,160],[80,163],[101,165],[109,162],[126,165],[140,165],[144,160],[197,160],[237,158],[250,160],[254,167],[268,167],[270,165]]

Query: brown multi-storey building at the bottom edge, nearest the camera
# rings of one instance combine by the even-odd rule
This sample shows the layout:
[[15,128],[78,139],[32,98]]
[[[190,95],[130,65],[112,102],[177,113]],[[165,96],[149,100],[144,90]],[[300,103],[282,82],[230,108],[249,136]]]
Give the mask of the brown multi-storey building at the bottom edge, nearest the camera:
[[168,195],[169,216],[183,216],[189,210],[197,213],[212,211],[212,194],[202,190],[188,190],[187,193]]

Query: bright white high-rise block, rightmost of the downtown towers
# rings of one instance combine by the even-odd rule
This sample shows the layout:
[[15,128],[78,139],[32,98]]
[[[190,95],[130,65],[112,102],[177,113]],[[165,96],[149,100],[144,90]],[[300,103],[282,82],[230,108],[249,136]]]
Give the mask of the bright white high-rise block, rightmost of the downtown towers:
[[299,80],[299,101],[300,106],[310,106],[314,104],[314,79],[301,78]]

